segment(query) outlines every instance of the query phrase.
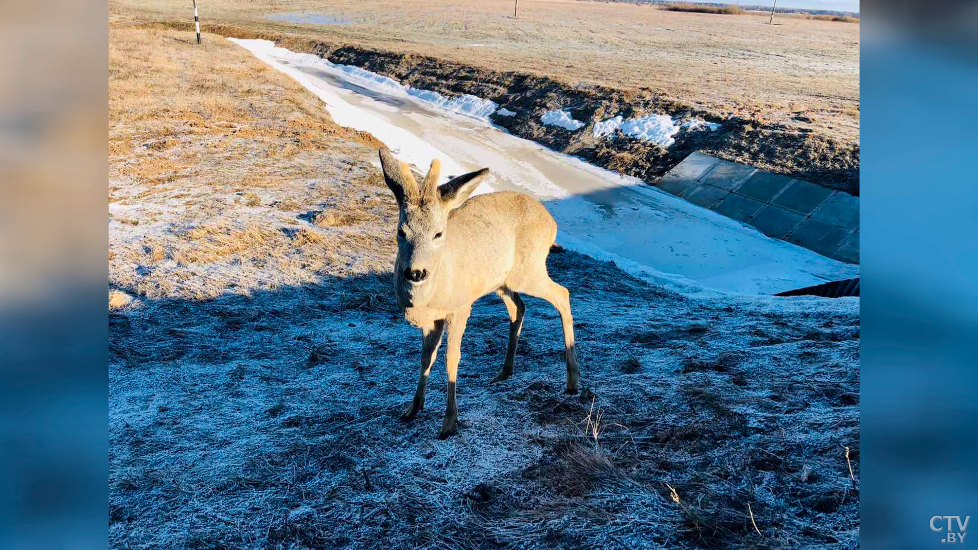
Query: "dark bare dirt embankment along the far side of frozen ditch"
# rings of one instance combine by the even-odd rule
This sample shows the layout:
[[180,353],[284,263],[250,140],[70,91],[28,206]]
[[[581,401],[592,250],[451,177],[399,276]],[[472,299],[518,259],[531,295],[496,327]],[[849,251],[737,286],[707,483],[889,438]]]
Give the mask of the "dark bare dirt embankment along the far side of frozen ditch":
[[[324,42],[313,44],[308,51],[333,63],[372,70],[450,97],[471,94],[492,100],[516,113],[492,117],[493,122],[513,134],[647,182],[657,181],[690,153],[702,151],[859,195],[858,144],[767,123],[759,117],[693,109],[649,89],[571,85],[546,76],[474,69],[418,55],[337,47]],[[587,125],[569,132],[540,122],[541,115],[556,109],[569,111]],[[621,134],[611,138],[593,136],[593,124],[604,118],[653,113],[700,116],[723,126],[714,132],[680,132],[668,149]]]

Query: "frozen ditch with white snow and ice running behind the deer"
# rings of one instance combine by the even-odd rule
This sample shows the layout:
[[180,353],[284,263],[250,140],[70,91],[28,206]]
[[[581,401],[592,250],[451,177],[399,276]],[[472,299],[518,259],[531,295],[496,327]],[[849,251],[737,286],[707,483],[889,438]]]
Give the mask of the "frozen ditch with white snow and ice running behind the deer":
[[439,109],[390,79],[267,40],[231,40],[315,93],[336,123],[370,132],[422,172],[434,158],[442,160],[443,177],[488,166],[493,177],[480,192],[535,195],[556,218],[558,243],[613,259],[646,280],[686,293],[772,294],[859,275],[859,266],[771,239],[483,119]]

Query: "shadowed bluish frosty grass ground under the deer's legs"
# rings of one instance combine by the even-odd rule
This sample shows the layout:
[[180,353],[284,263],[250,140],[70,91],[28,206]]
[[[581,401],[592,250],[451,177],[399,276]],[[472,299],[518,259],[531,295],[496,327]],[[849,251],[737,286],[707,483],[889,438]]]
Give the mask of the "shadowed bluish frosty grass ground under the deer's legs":
[[389,274],[112,315],[113,540],[856,546],[853,298],[686,298],[575,252],[550,268],[571,290],[582,394],[561,393],[559,320],[537,299],[515,376],[489,385],[508,320],[484,298],[463,344],[460,435],[446,441],[440,362],[427,408],[397,418],[420,338]]

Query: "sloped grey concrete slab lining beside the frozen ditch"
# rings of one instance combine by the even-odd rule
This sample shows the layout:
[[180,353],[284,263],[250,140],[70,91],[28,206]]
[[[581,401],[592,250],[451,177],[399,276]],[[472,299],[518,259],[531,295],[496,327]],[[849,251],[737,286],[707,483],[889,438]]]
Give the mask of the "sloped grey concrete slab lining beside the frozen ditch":
[[859,263],[859,197],[703,153],[669,170],[658,188],[769,237]]

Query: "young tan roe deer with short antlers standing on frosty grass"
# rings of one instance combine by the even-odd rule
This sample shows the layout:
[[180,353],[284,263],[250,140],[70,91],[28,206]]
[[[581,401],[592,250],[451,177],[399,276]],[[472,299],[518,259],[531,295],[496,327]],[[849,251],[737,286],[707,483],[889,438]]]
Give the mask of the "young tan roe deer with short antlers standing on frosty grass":
[[402,420],[424,408],[424,387],[448,329],[448,406],[438,438],[456,432],[459,418],[455,380],[472,302],[495,292],[510,313],[510,344],[503,370],[493,382],[512,375],[516,342],[523,326],[524,293],[554,304],[563,324],[567,393],[577,392],[580,371],[574,350],[574,321],[567,289],[547,274],[547,254],[556,238],[556,221],[536,199],[513,191],[468,196],[489,174],[489,168],[461,175],[439,186],[440,162],[431,161],[421,186],[407,163],[380,149],[387,187],[394,192],[400,217],[394,294],[412,325],[422,330],[422,371],[418,390]]

